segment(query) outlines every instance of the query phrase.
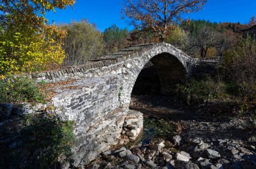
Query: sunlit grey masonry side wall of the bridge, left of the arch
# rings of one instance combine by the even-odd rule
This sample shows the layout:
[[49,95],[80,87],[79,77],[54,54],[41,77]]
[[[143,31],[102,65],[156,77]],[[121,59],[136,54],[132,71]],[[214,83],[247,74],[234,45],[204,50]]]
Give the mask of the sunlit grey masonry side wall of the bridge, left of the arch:
[[84,78],[55,89],[56,112],[75,121],[75,164],[94,160],[117,144],[127,110],[119,108],[120,78],[117,74]]

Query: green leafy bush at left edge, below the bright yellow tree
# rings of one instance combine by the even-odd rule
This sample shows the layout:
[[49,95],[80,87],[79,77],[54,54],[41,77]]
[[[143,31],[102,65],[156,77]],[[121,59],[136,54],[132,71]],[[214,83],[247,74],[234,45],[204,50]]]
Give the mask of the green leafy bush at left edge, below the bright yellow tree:
[[0,80],[0,103],[42,103],[44,95],[40,92],[38,84],[31,79],[1,78]]

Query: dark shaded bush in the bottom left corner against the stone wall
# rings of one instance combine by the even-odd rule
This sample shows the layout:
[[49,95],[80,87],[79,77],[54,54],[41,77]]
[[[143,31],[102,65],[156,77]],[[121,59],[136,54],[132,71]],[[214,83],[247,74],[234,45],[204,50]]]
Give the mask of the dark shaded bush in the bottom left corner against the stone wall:
[[4,146],[1,166],[6,168],[51,168],[60,160],[72,163],[73,121],[57,115],[27,115],[14,144]]

